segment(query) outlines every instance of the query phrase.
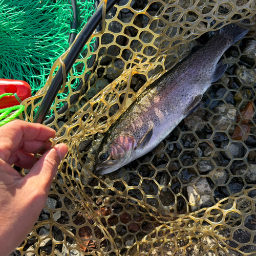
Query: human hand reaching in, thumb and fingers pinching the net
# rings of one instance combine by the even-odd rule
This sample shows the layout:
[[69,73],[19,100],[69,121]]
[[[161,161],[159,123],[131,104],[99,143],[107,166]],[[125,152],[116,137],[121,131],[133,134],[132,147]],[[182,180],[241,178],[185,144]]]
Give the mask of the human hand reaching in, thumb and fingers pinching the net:
[[[9,255],[23,242],[46,204],[68,146],[55,145],[34,165],[33,154],[55,133],[47,126],[21,120],[0,127],[0,256]],[[31,170],[22,177],[12,164]]]

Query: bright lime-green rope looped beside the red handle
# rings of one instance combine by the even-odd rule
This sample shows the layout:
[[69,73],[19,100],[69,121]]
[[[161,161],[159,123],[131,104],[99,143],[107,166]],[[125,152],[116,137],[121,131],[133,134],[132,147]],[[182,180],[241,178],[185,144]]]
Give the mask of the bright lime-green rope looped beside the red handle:
[[[19,99],[18,95],[16,93],[4,93],[2,95],[0,95],[0,99],[5,97],[5,96],[12,96],[14,95],[15,98],[21,102],[21,100]],[[25,109],[24,105],[16,105],[16,106],[10,106],[9,108],[6,109],[2,109],[0,110],[0,126],[10,122],[11,120],[13,120],[14,118],[16,118],[20,113],[22,113]],[[13,112],[15,111],[15,112]],[[13,112],[11,115],[10,113]],[[4,120],[3,120],[4,119]]]

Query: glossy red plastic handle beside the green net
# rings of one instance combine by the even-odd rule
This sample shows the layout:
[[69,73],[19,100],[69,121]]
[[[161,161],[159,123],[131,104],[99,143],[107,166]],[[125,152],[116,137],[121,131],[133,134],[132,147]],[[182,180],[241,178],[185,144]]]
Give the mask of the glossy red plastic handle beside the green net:
[[[4,93],[16,93],[20,100],[25,100],[31,96],[31,88],[25,81],[0,79],[0,95]],[[19,105],[14,95],[5,96],[0,99],[0,109]]]

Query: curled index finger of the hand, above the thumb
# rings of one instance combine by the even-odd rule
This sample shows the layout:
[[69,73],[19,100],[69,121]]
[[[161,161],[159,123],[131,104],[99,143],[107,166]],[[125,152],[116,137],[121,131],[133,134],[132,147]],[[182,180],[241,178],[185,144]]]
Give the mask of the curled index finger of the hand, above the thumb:
[[0,127],[0,158],[7,161],[18,149],[33,153],[55,135],[50,127],[22,120],[11,121]]

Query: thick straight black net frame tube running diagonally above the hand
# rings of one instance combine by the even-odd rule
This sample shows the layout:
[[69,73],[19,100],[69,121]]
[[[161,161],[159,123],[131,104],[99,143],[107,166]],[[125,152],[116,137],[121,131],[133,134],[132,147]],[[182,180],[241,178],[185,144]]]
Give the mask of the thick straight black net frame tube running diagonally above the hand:
[[[109,0],[106,4],[106,13],[110,11],[110,9],[115,5],[118,0]],[[66,58],[63,60],[66,66],[66,74],[68,74],[75,62],[78,58],[81,50],[83,49],[84,45],[86,45],[87,41],[89,40],[90,36],[92,35],[93,31],[97,28],[99,23],[102,20],[102,9],[103,5],[101,5],[95,13],[90,18],[89,22],[84,26],[81,33],[76,38],[72,48],[70,49],[69,53],[67,54]],[[59,67],[57,74],[53,78],[51,85],[42,100],[40,107],[35,115],[33,122],[35,123],[42,123],[44,122],[46,115],[54,101],[59,89],[61,88],[63,82],[63,74],[62,74],[62,66]]]

